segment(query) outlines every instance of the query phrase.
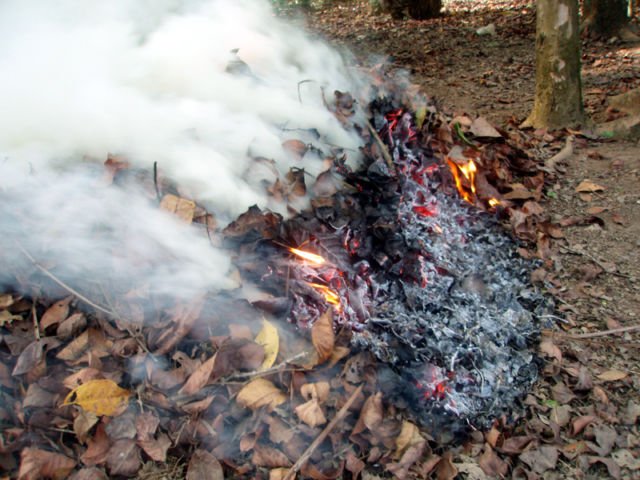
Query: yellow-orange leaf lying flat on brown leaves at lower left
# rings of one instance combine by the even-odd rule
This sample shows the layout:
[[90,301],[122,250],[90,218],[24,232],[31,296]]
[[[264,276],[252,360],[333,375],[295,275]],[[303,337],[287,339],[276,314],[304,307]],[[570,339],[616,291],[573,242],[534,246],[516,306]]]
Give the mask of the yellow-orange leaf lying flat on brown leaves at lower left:
[[122,412],[129,402],[131,392],[120,388],[112,380],[89,380],[74,388],[63,405],[78,405],[98,416],[114,416]]

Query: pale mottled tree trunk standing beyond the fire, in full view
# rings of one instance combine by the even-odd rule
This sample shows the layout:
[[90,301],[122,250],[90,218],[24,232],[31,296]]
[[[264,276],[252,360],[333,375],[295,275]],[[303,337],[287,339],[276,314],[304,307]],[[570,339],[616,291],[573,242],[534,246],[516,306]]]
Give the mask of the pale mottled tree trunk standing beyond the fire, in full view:
[[578,0],[538,0],[536,96],[523,126],[563,128],[585,121]]

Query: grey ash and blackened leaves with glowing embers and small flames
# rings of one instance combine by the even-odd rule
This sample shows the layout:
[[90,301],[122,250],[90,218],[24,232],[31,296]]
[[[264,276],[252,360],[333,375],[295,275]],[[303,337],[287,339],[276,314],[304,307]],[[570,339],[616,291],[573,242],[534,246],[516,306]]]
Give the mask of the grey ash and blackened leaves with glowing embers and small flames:
[[[353,107],[336,92],[339,114]],[[254,306],[301,329],[332,315],[379,361],[385,397],[450,441],[517,410],[537,378],[546,306],[534,263],[499,225],[508,202],[478,192],[478,164],[438,139],[445,120],[423,108],[417,125],[402,99],[378,95],[360,128],[360,168],[333,152],[311,209],[283,220],[252,207],[224,233],[243,278],[270,294]],[[289,181],[306,190],[303,172]]]

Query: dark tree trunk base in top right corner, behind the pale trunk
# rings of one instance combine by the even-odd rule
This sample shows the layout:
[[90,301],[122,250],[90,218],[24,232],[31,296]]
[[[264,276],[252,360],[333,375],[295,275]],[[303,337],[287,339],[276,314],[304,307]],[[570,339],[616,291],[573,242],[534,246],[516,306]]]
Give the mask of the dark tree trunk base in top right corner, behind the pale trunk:
[[610,38],[629,25],[628,0],[585,0],[582,28],[588,34]]

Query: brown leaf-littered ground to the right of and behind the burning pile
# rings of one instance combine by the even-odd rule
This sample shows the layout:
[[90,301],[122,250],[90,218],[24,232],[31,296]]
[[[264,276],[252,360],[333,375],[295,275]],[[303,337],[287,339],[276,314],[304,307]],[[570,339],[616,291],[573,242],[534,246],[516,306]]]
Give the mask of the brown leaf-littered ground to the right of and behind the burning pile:
[[[532,2],[453,0],[445,2],[441,18],[426,21],[372,15],[367,2],[332,2],[306,20],[312,31],[351,51],[362,65],[384,58],[393,69],[409,72],[411,81],[451,116],[484,116],[514,129],[532,109]],[[491,23],[495,35],[476,33]],[[582,78],[592,121],[615,118],[620,114],[608,99],[640,86],[640,45],[583,41]],[[490,444],[509,468],[501,470],[499,462],[487,465],[479,454],[483,447],[467,445],[454,455],[465,478],[640,475],[640,334],[594,335],[640,323],[640,146],[597,139],[588,130],[572,132],[577,138],[573,154],[563,173],[546,179],[541,202],[550,220],[564,226],[542,273],[553,285],[563,318],[543,337],[541,349],[548,359],[543,378],[527,399],[530,411],[522,425],[499,437],[485,434],[483,455]],[[529,132],[539,140],[537,153],[547,157],[560,150],[568,135]],[[584,180],[602,189],[578,192]],[[501,445],[518,431],[539,440],[516,458]],[[474,457],[481,470],[468,465]]]

